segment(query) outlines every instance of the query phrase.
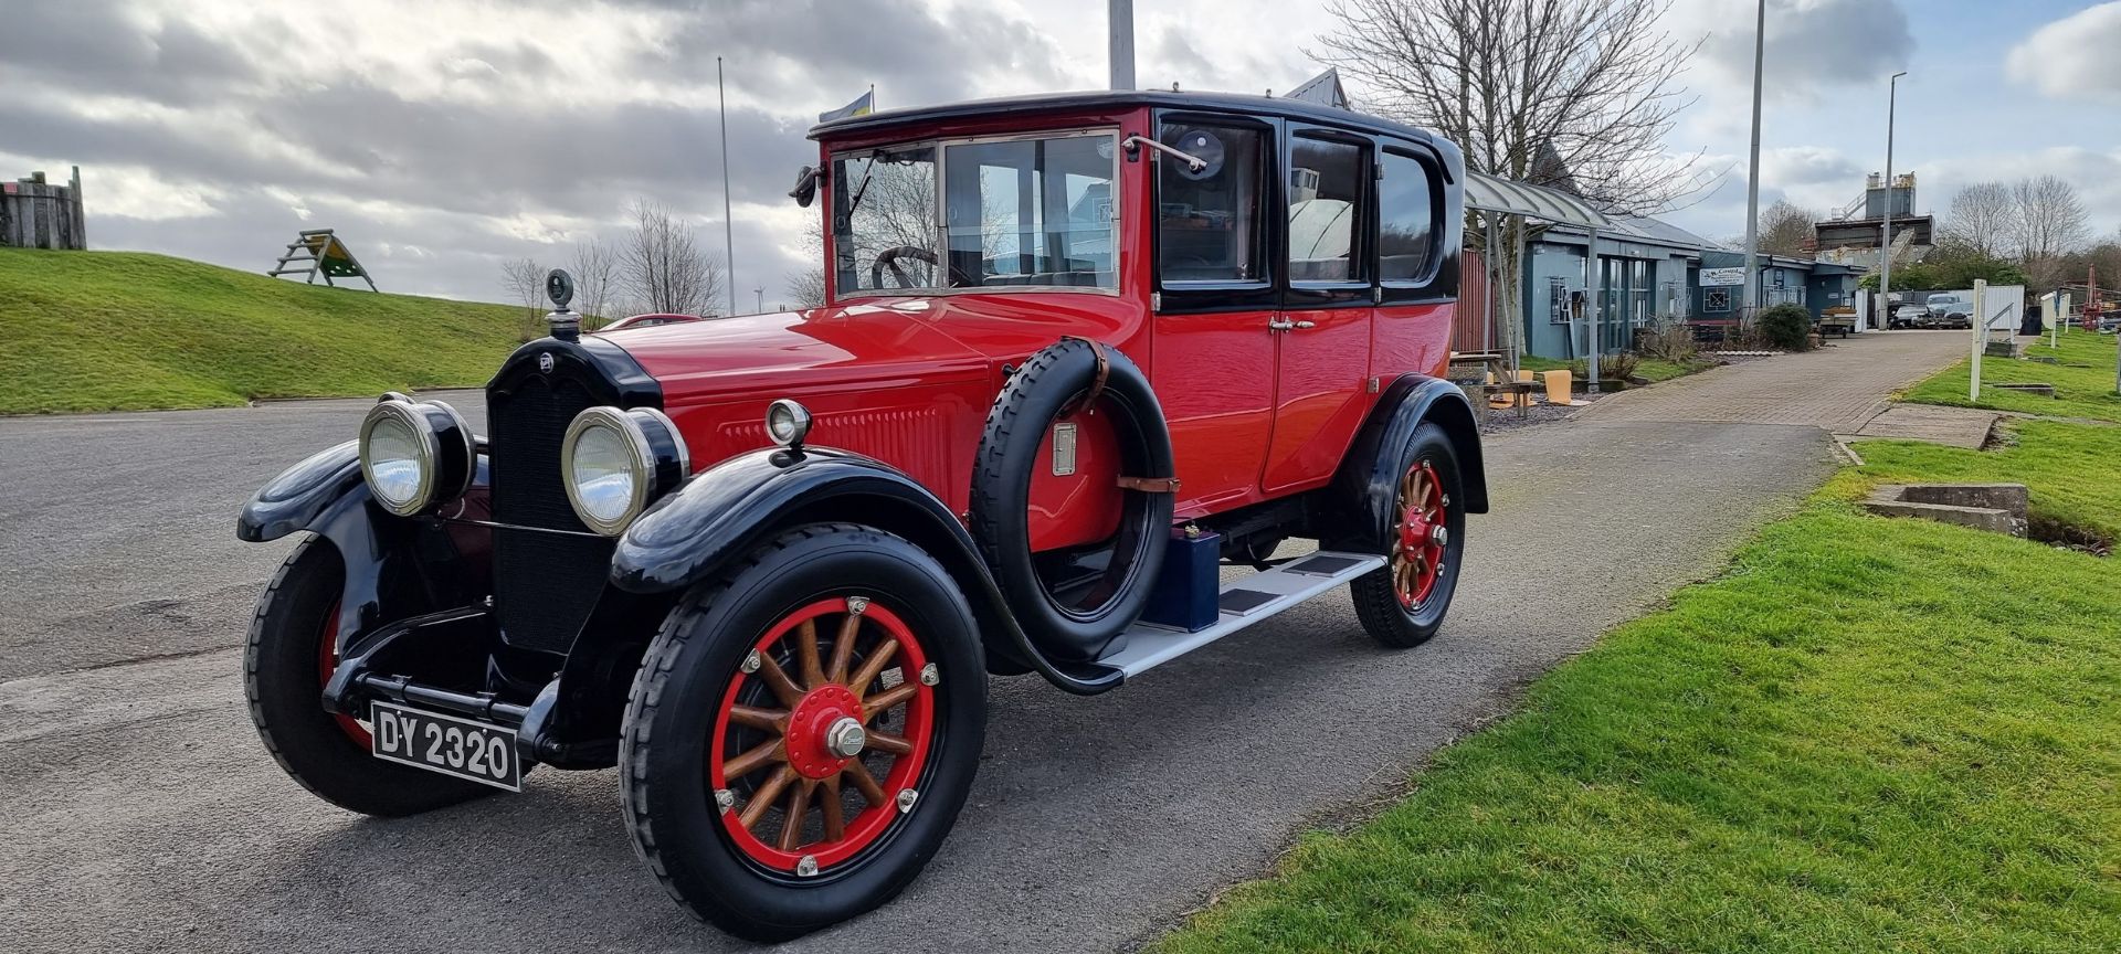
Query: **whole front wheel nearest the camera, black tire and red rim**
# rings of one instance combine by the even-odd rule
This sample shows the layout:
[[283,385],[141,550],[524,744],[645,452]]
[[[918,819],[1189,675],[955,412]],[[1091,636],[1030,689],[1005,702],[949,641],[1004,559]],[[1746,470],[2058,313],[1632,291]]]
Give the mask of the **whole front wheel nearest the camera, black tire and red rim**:
[[634,848],[691,914],[783,941],[895,897],[971,789],[971,606],[912,543],[791,530],[687,594],[626,710]]

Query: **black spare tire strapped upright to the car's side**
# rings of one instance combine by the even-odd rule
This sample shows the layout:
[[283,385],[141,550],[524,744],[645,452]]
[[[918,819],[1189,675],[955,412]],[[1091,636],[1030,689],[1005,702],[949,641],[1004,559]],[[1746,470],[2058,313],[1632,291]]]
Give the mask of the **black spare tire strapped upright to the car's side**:
[[[1069,553],[1073,572],[1060,579],[1054,555],[1031,553],[1031,469],[1054,422],[1082,407],[1109,413],[1120,524],[1090,553]],[[1097,659],[1141,615],[1171,541],[1175,477],[1156,390],[1118,350],[1065,337],[1010,375],[974,458],[971,534],[1033,647],[1050,659]]]

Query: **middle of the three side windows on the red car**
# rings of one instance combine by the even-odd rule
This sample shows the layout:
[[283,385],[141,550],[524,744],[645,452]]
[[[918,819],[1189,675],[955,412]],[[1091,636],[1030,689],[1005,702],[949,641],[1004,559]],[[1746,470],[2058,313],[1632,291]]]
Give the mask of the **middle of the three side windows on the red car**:
[[1290,146],[1290,282],[1360,282],[1368,148],[1298,136]]

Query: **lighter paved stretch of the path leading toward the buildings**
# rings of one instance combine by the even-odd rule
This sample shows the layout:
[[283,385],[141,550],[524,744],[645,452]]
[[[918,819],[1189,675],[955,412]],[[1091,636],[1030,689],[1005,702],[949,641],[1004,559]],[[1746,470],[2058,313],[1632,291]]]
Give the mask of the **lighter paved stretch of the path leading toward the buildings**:
[[1966,335],[1953,331],[1856,335],[1807,354],[1750,360],[1620,392],[1587,407],[1576,420],[1811,424],[1854,435],[1886,411],[1892,392],[1962,354]]

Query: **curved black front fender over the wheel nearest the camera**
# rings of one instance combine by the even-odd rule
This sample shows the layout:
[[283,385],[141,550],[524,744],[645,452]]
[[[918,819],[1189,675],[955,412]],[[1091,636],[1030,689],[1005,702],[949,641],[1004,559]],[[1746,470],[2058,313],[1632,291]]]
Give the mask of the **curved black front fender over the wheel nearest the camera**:
[[691,475],[619,538],[611,583],[634,594],[677,591],[772,534],[819,522],[889,530],[942,562],[971,602],[988,657],[1012,672],[1035,670],[1082,695],[1120,685],[1120,670],[1037,653],[950,507],[891,464],[842,449],[761,449]]

